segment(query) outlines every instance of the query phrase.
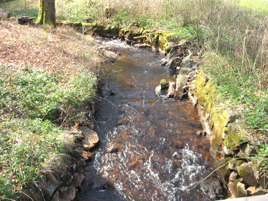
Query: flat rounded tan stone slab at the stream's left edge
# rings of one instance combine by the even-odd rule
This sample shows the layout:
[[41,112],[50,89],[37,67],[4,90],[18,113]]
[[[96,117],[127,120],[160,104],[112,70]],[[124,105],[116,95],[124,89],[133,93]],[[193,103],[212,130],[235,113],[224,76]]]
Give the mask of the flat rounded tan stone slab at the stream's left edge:
[[83,142],[83,147],[85,150],[92,150],[95,148],[95,146],[99,142],[98,134],[86,127],[80,128],[80,130],[83,132],[84,139],[82,140]]

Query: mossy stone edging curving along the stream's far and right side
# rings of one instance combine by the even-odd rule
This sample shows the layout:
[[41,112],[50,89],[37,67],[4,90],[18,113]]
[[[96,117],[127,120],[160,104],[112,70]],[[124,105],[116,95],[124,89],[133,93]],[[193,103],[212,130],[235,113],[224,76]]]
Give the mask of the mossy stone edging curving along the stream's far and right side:
[[[77,26],[81,28],[80,24]],[[99,25],[95,24],[94,26]],[[119,32],[114,30],[119,30]],[[173,56],[175,55],[173,59],[171,59],[171,57],[168,57],[168,60],[165,63],[168,63],[168,69],[175,69],[179,73],[181,71],[181,74],[184,75],[187,75],[187,72],[189,70],[192,71],[192,67],[196,66],[194,64],[199,63],[198,56],[201,53],[197,51],[198,48],[195,45],[192,45],[190,47],[189,44],[182,43],[180,45],[175,45],[176,48],[172,48],[174,47],[174,44],[169,39],[172,38],[172,34],[159,33],[158,35],[158,33],[155,33],[154,30],[147,30],[147,32],[145,30],[141,30],[137,34],[128,30],[122,30],[119,27],[108,27],[106,30],[99,29],[98,31],[99,33],[103,33],[101,35],[106,36],[113,36],[114,34],[114,37],[117,37],[117,34],[118,36],[121,34],[121,38],[124,38],[127,43],[136,45],[141,48],[150,46],[156,51],[162,52],[165,55],[168,55],[170,51],[176,52],[173,54]],[[139,38],[142,34],[146,35],[146,39]],[[165,38],[165,43],[161,42],[162,37]],[[143,44],[137,44],[135,40],[137,40],[136,42],[142,42]],[[186,48],[184,48],[184,46]],[[183,61],[182,57],[189,54],[191,56],[189,56],[187,59],[184,59]],[[113,60],[111,61],[114,62]],[[185,64],[184,68],[186,68],[186,70],[182,68],[183,64]],[[189,64],[191,67],[188,66]],[[183,72],[184,70],[185,72]],[[193,79],[195,77],[197,77],[196,80]],[[248,161],[246,158],[248,158],[250,154],[255,154],[254,147],[252,144],[247,145],[248,142],[246,139],[235,132],[237,128],[234,127],[234,122],[239,122],[239,120],[237,120],[240,117],[239,114],[231,111],[230,109],[225,109],[224,107],[219,110],[220,97],[217,94],[217,86],[209,81],[209,79],[207,79],[204,74],[199,74],[197,76],[197,74],[194,73],[191,76],[190,80],[183,80],[184,86],[182,84],[181,88],[177,88],[177,83],[182,83],[181,81],[174,80],[174,83],[176,84],[168,83],[169,86],[171,86],[170,90],[168,89],[168,93],[172,91],[176,94],[176,91],[188,88],[188,98],[194,101],[194,104],[197,108],[199,108],[200,112],[203,112],[204,121],[207,122],[208,128],[210,128],[212,131],[208,135],[211,143],[210,151],[217,158],[217,160],[224,158],[220,164],[226,163],[223,168],[220,168],[218,174],[221,176],[224,186],[229,189],[229,196],[242,197],[247,195],[257,195],[258,193],[265,193],[265,190],[263,189],[266,187],[266,183],[263,181],[265,180],[264,176],[259,174],[255,176],[256,171],[251,171],[251,169],[247,166]],[[185,87],[186,85],[187,87]],[[184,92],[186,91],[183,91],[183,93]],[[177,95],[176,97],[178,98]],[[205,135],[207,133],[207,131],[198,132],[199,135]],[[117,153],[117,151],[115,151],[115,153]],[[230,163],[228,163],[229,161]],[[233,161],[235,161],[235,163],[232,163]],[[236,161],[238,161],[238,163],[236,163]],[[259,178],[256,179],[258,176]]]

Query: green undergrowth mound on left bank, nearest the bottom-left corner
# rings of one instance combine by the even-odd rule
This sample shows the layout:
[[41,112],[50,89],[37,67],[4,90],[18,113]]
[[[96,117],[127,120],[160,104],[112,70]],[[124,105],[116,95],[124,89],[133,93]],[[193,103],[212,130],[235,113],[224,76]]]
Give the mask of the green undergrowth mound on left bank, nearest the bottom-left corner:
[[[2,114],[1,118],[4,121],[0,123],[0,199],[20,199],[24,196],[21,192],[32,196],[27,187],[42,179],[47,170],[66,166],[64,156],[74,143],[68,139],[68,133],[58,130],[49,120],[22,120],[9,114]],[[46,163],[51,158],[53,167]]]

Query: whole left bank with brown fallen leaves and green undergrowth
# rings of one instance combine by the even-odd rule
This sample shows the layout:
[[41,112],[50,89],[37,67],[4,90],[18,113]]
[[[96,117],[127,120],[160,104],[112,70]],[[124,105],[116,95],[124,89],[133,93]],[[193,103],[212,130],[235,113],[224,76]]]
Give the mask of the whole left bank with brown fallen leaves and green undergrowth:
[[69,27],[0,20],[0,200],[42,200],[46,173],[57,178],[73,163],[65,130],[89,121],[101,62],[95,48]]

